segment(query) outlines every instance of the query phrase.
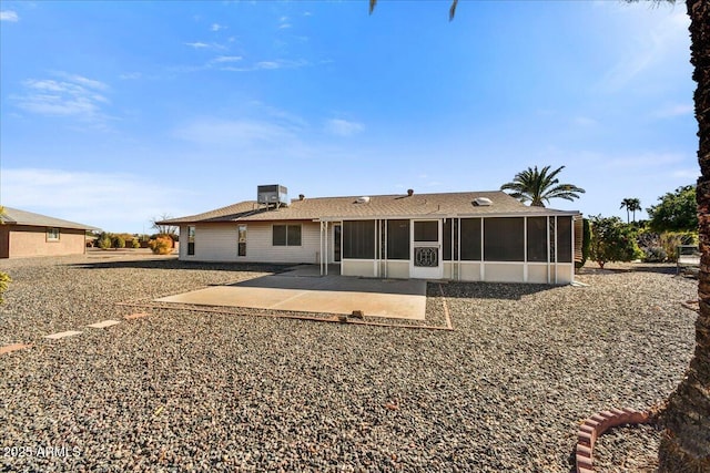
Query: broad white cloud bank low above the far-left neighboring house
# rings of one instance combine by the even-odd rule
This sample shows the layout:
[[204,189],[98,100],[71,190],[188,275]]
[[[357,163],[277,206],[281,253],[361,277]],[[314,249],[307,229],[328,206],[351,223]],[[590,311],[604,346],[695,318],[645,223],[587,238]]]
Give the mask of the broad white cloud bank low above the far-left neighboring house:
[[9,207],[93,225],[109,232],[138,233],[182,192],[161,182],[122,173],[52,168],[3,168],[2,199]]

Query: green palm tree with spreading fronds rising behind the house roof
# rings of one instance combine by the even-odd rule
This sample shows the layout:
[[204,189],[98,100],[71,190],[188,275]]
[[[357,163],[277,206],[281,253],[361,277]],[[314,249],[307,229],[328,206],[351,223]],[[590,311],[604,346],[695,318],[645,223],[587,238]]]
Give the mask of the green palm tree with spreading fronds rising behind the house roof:
[[511,197],[525,203],[530,202],[531,206],[545,207],[545,203],[549,204],[550,198],[564,198],[574,200],[579,198],[579,194],[584,194],[585,189],[572,184],[559,184],[557,175],[565,166],[548,174],[550,166],[542,167],[542,171],[528,167],[515,175],[513,182],[500,186],[500,191],[511,191]]

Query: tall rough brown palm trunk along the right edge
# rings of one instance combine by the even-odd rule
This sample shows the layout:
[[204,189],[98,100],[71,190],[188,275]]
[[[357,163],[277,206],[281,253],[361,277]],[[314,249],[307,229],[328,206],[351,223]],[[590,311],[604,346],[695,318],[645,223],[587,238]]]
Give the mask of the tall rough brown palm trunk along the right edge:
[[666,428],[659,449],[661,472],[710,472],[710,1],[687,0],[690,16],[690,61],[700,147],[698,219],[700,234],[700,310],[696,351],[684,379],[661,415]]

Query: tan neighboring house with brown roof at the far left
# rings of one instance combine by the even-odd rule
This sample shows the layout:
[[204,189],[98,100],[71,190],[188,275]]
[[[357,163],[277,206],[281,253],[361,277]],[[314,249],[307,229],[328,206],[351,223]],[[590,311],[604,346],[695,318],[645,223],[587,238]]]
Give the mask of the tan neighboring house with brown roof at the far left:
[[97,229],[10,207],[1,217],[0,258],[81,255],[87,251],[87,230]]

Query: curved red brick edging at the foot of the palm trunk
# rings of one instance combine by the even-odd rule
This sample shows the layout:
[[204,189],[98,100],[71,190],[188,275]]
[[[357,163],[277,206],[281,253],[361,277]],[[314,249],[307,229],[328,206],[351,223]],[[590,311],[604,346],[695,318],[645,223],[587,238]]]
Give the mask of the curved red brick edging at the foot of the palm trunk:
[[650,412],[640,412],[632,408],[610,409],[586,419],[577,431],[576,464],[577,473],[594,473],[594,450],[597,439],[612,426],[623,424],[643,424],[651,420]]

